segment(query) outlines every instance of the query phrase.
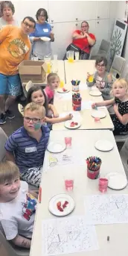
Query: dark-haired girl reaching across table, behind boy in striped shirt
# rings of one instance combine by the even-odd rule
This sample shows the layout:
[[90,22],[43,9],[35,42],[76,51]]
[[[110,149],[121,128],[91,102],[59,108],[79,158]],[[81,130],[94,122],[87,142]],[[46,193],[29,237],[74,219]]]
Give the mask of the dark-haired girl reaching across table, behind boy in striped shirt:
[[[71,114],[68,114],[65,117],[58,117],[57,110],[54,107],[54,105],[48,104],[47,97],[45,96],[45,93],[42,90],[42,87],[33,86],[28,90],[27,104],[30,102],[35,102],[36,104],[41,104],[42,106],[45,107],[45,112],[46,112],[45,122],[47,122],[49,124],[55,124],[57,122],[65,122],[67,120],[71,120],[73,117]],[[20,106],[19,106],[19,108],[20,108]],[[48,110],[52,111],[53,117],[51,117],[51,118],[48,117]],[[21,113],[23,115],[23,110]]]

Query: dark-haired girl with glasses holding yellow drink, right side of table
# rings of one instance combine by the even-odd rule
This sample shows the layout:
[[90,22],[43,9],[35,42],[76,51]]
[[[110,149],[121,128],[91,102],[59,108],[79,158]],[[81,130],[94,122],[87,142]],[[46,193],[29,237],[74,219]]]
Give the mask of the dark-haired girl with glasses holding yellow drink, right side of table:
[[96,84],[96,87],[102,93],[103,99],[112,99],[110,96],[110,91],[112,90],[112,75],[106,72],[107,60],[106,57],[98,57],[95,61],[95,67],[97,71],[95,72],[92,82],[89,82],[90,74],[87,74],[86,84],[92,87]]

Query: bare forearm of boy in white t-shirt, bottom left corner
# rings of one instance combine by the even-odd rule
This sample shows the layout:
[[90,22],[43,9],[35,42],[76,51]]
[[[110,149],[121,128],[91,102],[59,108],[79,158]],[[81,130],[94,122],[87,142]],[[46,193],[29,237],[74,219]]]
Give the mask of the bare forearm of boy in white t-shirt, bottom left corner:
[[19,234],[16,235],[13,240],[11,240],[16,246],[31,248],[31,240],[26,237],[22,237]]

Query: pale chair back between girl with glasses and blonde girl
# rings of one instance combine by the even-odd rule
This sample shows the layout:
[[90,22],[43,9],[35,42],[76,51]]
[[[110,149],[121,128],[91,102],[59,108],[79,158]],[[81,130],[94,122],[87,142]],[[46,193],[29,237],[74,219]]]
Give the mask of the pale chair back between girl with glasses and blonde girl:
[[126,62],[126,60],[124,59],[124,57],[115,55],[114,60],[112,62],[111,69],[109,71],[109,73],[112,74],[113,78],[116,78],[117,75],[119,78],[121,77],[125,62]]

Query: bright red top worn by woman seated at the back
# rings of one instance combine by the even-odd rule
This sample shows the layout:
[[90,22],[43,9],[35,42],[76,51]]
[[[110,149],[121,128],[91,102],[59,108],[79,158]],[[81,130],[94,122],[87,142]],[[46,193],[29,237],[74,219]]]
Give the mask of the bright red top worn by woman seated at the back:
[[[74,31],[77,34],[80,34],[81,31],[80,30],[76,30]],[[95,40],[95,35],[89,33],[89,37],[91,37],[92,39]],[[88,42],[88,38],[79,38],[79,39],[74,39],[73,42],[75,46],[79,47],[81,50],[86,51],[87,53],[90,52],[90,46],[89,46],[89,42]]]

